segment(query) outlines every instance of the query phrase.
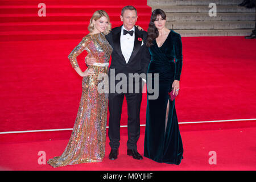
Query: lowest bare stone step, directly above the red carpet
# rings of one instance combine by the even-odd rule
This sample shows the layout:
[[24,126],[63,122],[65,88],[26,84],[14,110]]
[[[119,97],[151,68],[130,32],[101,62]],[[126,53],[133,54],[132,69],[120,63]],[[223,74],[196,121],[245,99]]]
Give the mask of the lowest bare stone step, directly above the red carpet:
[[175,30],[181,37],[189,36],[248,36],[251,29],[244,30]]

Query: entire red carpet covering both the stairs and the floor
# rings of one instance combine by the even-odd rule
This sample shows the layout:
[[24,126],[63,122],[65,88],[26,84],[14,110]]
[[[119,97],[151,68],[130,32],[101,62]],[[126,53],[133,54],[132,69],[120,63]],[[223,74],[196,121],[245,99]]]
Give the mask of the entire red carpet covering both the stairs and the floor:
[[[81,97],[82,78],[68,55],[83,36],[92,13],[108,11],[113,27],[121,26],[121,9],[127,1],[49,1],[46,17],[39,17],[32,0],[1,0],[0,5],[0,170],[51,170],[38,164],[38,151],[47,159],[63,152],[71,131],[1,134],[4,131],[70,129]],[[146,0],[129,1],[137,7],[137,24],[145,30],[151,9]],[[176,111],[184,143],[180,166],[141,162],[126,156],[127,128],[121,130],[117,161],[79,164],[57,170],[255,170],[254,121],[210,122],[256,118],[256,40],[243,37],[182,38],[183,71]],[[77,60],[85,70],[83,52]],[[121,125],[127,125],[126,101]],[[141,124],[146,119],[146,94]],[[192,122],[185,123],[184,122]],[[193,123],[194,122],[194,123]],[[225,130],[224,130],[225,129]],[[144,127],[139,152],[143,153]],[[25,143],[27,142],[27,143]],[[208,163],[216,151],[217,164]],[[117,165],[118,164],[118,165]]]

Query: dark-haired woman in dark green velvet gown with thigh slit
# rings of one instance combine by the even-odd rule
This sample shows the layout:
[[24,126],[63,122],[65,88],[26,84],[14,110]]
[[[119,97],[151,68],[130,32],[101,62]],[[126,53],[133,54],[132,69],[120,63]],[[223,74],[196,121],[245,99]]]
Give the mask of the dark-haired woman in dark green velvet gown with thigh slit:
[[146,46],[151,54],[148,73],[152,73],[152,88],[157,86],[154,85],[154,74],[159,74],[159,97],[156,100],[147,97],[144,156],[159,163],[179,165],[183,159],[183,144],[175,100],[170,99],[169,93],[171,90],[176,96],[179,93],[182,43],[181,36],[166,28],[165,23],[164,11],[154,10],[148,26]]

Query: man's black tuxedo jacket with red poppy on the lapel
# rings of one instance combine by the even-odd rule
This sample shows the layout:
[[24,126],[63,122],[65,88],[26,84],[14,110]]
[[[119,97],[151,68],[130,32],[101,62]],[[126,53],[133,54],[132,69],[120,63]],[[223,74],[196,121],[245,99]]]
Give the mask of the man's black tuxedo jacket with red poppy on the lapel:
[[[128,75],[128,73],[147,74],[148,64],[151,59],[148,47],[146,47],[147,32],[139,31],[138,28],[135,27],[134,48],[128,63],[126,63],[125,57],[123,57],[121,51],[121,30],[122,26],[113,28],[112,31],[106,35],[106,39],[113,47],[110,69],[115,69],[115,75],[118,73],[125,73],[125,75]],[[143,45],[141,46],[142,41]]]

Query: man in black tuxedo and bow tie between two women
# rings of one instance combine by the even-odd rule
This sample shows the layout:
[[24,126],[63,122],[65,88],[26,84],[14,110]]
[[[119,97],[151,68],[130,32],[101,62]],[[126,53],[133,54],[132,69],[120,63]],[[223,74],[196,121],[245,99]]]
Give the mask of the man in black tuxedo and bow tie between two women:
[[[129,82],[129,73],[133,75],[144,73],[146,76],[148,64],[150,63],[150,53],[146,47],[147,32],[139,31],[135,27],[137,21],[137,10],[133,6],[125,6],[122,9],[120,16],[123,25],[113,28],[106,35],[106,39],[113,47],[112,61],[109,71],[109,139],[111,151],[109,154],[110,160],[117,159],[118,148],[120,141],[120,119],[122,113],[122,104],[124,96],[127,101],[127,155],[133,156],[134,159],[141,160],[142,155],[137,151],[137,141],[140,134],[140,109],[142,101],[142,78],[139,78],[139,83],[134,81]],[[117,92],[116,88],[119,73],[126,75],[126,85],[122,85],[122,90],[125,92]],[[145,78],[146,79],[146,78]],[[114,80],[114,81],[113,81]],[[123,81],[123,80],[121,80]],[[139,93],[135,93],[136,87],[139,86]],[[129,88],[133,92],[129,91]]]

